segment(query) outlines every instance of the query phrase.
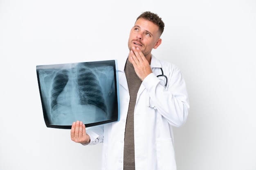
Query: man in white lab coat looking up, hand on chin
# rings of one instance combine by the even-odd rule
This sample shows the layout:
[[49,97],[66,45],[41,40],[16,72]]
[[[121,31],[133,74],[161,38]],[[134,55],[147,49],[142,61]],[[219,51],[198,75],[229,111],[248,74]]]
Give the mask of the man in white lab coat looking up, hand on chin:
[[144,12],[130,31],[130,53],[118,61],[120,120],[85,129],[74,122],[71,139],[103,142],[103,170],[176,170],[172,126],[186,122],[189,99],[180,70],[156,59],[164,22]]

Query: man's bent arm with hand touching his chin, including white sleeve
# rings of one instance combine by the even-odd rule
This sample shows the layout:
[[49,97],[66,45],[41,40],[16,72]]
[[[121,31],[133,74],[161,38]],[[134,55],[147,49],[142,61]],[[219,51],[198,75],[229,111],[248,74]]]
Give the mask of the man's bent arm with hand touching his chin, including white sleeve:
[[166,75],[168,76],[168,87],[166,87],[166,90],[159,84],[160,80],[153,74],[149,62],[139,48],[132,48],[129,59],[142,84],[146,87],[150,100],[152,100],[157,111],[171,125],[182,126],[188,116],[189,99],[180,70],[176,67],[173,70],[168,70],[168,75]]

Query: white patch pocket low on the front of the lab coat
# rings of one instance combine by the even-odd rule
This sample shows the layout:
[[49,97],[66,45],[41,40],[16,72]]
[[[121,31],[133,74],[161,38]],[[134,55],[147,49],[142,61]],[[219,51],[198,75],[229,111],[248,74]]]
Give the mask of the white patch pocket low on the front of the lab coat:
[[157,170],[176,170],[175,153],[171,138],[157,139]]

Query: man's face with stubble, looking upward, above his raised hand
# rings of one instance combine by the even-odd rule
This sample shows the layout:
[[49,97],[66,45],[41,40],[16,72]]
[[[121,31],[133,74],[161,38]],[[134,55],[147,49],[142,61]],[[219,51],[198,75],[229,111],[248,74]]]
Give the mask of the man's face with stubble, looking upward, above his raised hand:
[[128,48],[139,47],[147,59],[151,58],[151,50],[162,42],[159,38],[158,26],[151,21],[139,18],[130,31]]

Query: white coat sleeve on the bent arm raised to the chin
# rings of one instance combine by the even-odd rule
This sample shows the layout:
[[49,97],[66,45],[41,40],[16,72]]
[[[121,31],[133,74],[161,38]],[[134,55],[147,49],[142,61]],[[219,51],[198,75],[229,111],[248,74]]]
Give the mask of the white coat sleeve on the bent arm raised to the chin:
[[142,83],[149,93],[150,101],[157,109],[156,113],[166,118],[172,126],[182,126],[189,112],[186,84],[177,67],[169,70],[166,76],[166,88],[160,85],[160,80],[154,73],[149,74]]

